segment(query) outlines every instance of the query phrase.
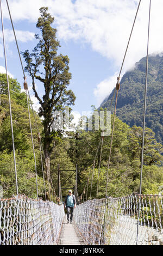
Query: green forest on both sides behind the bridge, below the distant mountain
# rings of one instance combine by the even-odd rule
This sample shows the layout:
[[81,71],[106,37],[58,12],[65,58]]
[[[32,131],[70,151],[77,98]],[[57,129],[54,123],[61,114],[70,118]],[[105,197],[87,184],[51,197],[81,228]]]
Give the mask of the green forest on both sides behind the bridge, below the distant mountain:
[[[7,82],[5,80],[4,74],[0,75],[0,80],[1,84],[3,85],[3,90],[1,90],[0,105],[0,185],[3,186],[4,197],[11,197],[16,193],[16,188],[10,132],[9,106],[6,91]],[[27,194],[29,197],[36,198],[35,167],[32,142],[30,138],[26,95],[21,92],[21,88],[17,80],[10,78],[9,81],[11,89],[12,118],[14,124],[19,192]],[[45,199],[39,144],[37,142],[37,132],[34,125],[32,111],[31,117],[37,161],[39,197],[43,197]],[[42,120],[39,118],[39,115],[36,115],[36,119],[37,124],[39,125],[39,129],[42,131],[43,124]],[[56,192],[58,187],[58,164],[60,164],[60,169],[75,169],[76,164],[78,164],[79,195],[83,192],[87,178],[90,179],[91,183],[92,163],[95,159],[100,138],[101,131],[83,130],[78,132],[68,132],[66,137],[60,136],[56,142],[55,150],[51,156],[51,178]],[[111,163],[109,169],[109,195],[117,197],[130,194],[133,191],[139,191],[141,142],[141,127],[129,127],[129,125],[116,118]],[[104,138],[102,162],[99,174],[99,198],[103,198],[105,196],[106,170],[108,164],[109,149],[110,136]],[[154,138],[154,132],[147,128],[145,137],[142,193],[159,193],[160,190],[162,190],[162,152],[163,147],[160,143],[156,142]],[[96,197],[99,156],[100,150],[98,151],[95,162],[92,198]],[[45,162],[43,163],[43,166],[45,170],[46,193],[48,198],[48,182]],[[74,178],[71,179],[71,182],[74,183]],[[90,183],[88,197],[90,196]],[[61,178],[61,185],[65,185],[65,178]],[[53,192],[52,187],[51,192]]]

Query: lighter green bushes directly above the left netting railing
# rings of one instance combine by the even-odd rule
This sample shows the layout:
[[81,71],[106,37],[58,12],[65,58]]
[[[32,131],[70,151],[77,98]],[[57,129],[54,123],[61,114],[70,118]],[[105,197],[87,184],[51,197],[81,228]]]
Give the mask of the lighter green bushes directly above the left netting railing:
[[[0,152],[0,184],[3,186],[3,197],[9,198],[16,194],[15,172],[13,154],[5,151]],[[18,192],[28,197],[36,198],[36,178],[34,173],[34,160],[20,157],[16,154]],[[43,179],[37,176],[39,197],[44,196]]]

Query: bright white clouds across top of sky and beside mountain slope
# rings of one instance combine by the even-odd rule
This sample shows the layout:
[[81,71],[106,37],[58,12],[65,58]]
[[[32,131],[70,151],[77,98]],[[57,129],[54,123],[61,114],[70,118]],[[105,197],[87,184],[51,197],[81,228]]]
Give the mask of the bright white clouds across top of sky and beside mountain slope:
[[[36,22],[39,8],[49,7],[55,16],[59,39],[90,44],[93,51],[108,58],[114,70],[119,70],[126,50],[139,0],[10,0],[14,21]],[[149,53],[163,51],[163,1],[152,1]],[[130,41],[123,72],[146,55],[149,1],[141,1],[139,14]],[[4,17],[9,17],[4,9]],[[109,92],[107,78],[98,84],[98,102]],[[110,82],[109,82],[110,83]],[[110,86],[111,88],[111,86]],[[103,92],[100,92],[103,90]],[[98,93],[100,92],[100,93]]]

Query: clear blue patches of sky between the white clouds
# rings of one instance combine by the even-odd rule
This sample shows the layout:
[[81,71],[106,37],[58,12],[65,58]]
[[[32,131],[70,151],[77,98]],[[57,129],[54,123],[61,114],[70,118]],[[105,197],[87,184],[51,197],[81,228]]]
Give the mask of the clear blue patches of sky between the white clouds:
[[[8,19],[4,19],[4,27],[5,29],[11,29],[10,21]],[[26,31],[39,33],[39,29],[36,28],[34,22],[17,21],[14,23],[14,27],[18,31],[22,31],[26,28]],[[56,27],[55,22],[54,27]],[[15,41],[13,40],[8,44],[8,36],[6,36],[5,41],[7,43],[8,71],[14,76],[14,78],[17,78],[18,82],[23,84],[23,75]],[[32,51],[36,44],[36,39],[29,40],[27,42],[18,40],[18,45],[22,52],[27,49]],[[77,97],[73,110],[82,114],[82,111],[90,111],[91,105],[99,107],[99,102],[97,102],[96,97],[93,94],[93,90],[96,88],[97,84],[103,80],[103,77],[107,77],[112,74],[114,68],[111,65],[111,60],[102,56],[98,52],[93,51],[90,44],[80,44],[78,41],[65,41],[64,39],[60,39],[60,45],[61,47],[59,48],[58,53],[68,55],[70,58],[69,66],[72,79],[70,81],[69,88],[73,90]],[[3,57],[0,58],[0,65],[4,66]],[[26,63],[23,60],[23,66],[25,65]],[[28,75],[27,81],[30,86],[31,78],[28,77]],[[39,92],[40,95],[43,93],[42,87],[39,89]],[[30,94],[33,95],[32,90],[30,91]]]

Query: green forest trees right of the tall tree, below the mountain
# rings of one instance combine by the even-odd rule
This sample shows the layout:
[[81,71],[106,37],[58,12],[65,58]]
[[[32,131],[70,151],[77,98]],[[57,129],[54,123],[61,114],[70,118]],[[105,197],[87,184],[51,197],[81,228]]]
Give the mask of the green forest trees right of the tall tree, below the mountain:
[[[111,115],[111,124],[113,116]],[[68,155],[74,163],[79,164],[80,175],[78,181],[79,194],[83,192],[87,178],[89,178],[89,190],[92,179],[92,163],[96,155],[98,143],[101,137],[99,131],[80,131],[71,133]],[[143,162],[142,193],[153,191],[159,192],[162,185],[162,150],[163,147],[155,140],[155,133],[146,128],[145,147]],[[114,197],[126,196],[127,194],[139,192],[140,186],[140,164],[141,164],[142,128],[129,127],[120,119],[115,120],[115,132],[112,143],[108,195]],[[99,175],[98,198],[105,197],[106,172],[108,168],[108,156],[110,150],[110,136],[104,138],[101,169]],[[96,197],[97,176],[99,166],[100,148],[95,162],[95,173],[93,176],[92,198]]]

